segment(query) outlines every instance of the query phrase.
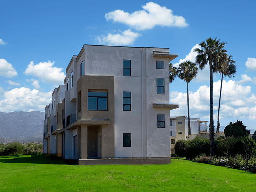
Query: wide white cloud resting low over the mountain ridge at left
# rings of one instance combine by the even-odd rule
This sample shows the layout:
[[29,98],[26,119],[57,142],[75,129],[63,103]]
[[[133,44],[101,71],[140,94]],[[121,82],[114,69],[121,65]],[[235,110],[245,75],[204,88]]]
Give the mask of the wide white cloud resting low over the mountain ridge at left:
[[12,89],[4,93],[5,99],[0,100],[0,111],[44,111],[51,102],[52,92],[40,92],[25,87]]

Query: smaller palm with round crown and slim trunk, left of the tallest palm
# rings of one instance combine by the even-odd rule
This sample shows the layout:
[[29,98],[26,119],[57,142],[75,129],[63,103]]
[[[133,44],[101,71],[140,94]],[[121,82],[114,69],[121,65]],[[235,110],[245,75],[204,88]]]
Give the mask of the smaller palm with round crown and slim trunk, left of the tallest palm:
[[178,78],[187,82],[187,116],[188,116],[188,135],[191,135],[190,117],[189,117],[189,92],[188,83],[197,76],[198,68],[195,63],[185,61],[181,63],[177,70]]

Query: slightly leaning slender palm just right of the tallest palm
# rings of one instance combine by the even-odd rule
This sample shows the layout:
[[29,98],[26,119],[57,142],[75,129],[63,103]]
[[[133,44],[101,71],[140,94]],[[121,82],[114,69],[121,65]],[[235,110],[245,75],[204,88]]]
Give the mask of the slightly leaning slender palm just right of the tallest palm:
[[[229,55],[227,65],[225,65],[225,67],[222,68],[222,70],[220,71],[220,73],[221,73],[221,90],[222,90],[223,75],[224,75],[224,77],[228,76],[229,78],[236,76],[236,65],[234,65],[233,63],[236,63],[236,61],[234,61],[232,59],[232,55]],[[219,128],[221,127],[221,124],[219,122],[219,109],[221,106],[221,90],[219,93],[218,122],[217,122],[216,133],[219,133]]]

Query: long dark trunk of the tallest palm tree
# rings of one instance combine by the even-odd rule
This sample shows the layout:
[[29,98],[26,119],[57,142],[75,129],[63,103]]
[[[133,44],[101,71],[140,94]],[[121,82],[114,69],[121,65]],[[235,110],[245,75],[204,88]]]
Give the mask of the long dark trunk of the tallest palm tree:
[[212,61],[209,61],[210,65],[210,156],[214,155],[214,122],[213,122],[213,66]]

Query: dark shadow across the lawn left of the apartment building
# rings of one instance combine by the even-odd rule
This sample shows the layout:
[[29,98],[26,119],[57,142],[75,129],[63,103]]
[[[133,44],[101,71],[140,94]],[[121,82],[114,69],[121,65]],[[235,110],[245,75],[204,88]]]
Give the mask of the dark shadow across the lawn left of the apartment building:
[[0,162],[3,163],[34,163],[34,164],[70,164],[76,165],[75,161],[65,161],[61,157],[53,155],[10,155],[0,157]]

